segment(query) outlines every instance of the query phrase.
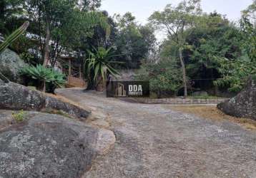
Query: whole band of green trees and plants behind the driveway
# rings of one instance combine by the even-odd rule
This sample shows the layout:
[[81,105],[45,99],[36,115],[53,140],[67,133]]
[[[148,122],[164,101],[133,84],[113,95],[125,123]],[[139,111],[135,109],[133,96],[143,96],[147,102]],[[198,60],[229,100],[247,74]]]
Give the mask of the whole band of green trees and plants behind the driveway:
[[[3,36],[24,21],[31,24],[9,48],[29,63],[21,69],[23,84],[42,91],[63,85],[67,74],[84,76],[87,90],[95,90],[117,70],[138,69],[136,79],[149,80],[157,98],[195,91],[226,96],[242,90],[256,73],[256,1],[238,23],[217,11],[205,13],[200,0],[184,0],[154,12],[145,25],[130,12],[109,16],[99,10],[100,0],[2,0],[0,5]],[[159,30],[167,33],[157,43]]]

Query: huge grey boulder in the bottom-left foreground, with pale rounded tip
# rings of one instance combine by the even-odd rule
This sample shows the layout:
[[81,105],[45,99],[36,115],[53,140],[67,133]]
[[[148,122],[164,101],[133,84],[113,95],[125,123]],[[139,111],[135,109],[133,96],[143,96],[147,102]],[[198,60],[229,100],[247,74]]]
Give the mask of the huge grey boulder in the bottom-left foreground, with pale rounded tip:
[[60,115],[10,118],[11,111],[0,110],[0,177],[82,177],[115,142],[109,130]]

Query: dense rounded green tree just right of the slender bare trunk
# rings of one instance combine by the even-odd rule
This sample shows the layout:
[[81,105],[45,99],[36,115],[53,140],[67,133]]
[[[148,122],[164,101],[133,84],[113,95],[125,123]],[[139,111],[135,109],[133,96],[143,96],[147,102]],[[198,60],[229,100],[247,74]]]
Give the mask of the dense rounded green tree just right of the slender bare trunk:
[[[232,61],[245,56],[243,41],[242,31],[220,14],[214,12],[201,16],[200,25],[187,36],[188,48],[184,50],[187,75],[195,79],[195,88],[208,90],[214,87],[217,94],[214,80],[222,78],[219,70],[222,60],[226,58]],[[217,58],[220,60],[216,60]]]

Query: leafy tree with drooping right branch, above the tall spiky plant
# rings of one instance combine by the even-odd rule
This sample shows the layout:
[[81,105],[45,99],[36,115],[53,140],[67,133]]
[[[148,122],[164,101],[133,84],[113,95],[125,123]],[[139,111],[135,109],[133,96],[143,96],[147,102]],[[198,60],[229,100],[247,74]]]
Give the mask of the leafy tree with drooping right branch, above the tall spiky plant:
[[53,33],[55,40],[51,45],[51,66],[54,66],[61,51],[74,53],[79,63],[82,63],[82,58],[87,55],[87,49],[92,45],[88,38],[94,37],[96,26],[104,31],[104,38],[107,39],[110,26],[107,17],[102,12],[74,9],[72,14],[69,14],[69,19],[67,19],[65,25],[61,29],[56,29]]

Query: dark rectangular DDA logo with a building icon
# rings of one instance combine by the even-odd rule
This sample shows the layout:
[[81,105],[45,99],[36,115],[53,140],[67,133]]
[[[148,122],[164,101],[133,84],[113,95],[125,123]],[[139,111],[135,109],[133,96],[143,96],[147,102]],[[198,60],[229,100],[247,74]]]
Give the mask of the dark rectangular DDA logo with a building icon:
[[112,81],[107,83],[108,98],[149,98],[149,82]]

